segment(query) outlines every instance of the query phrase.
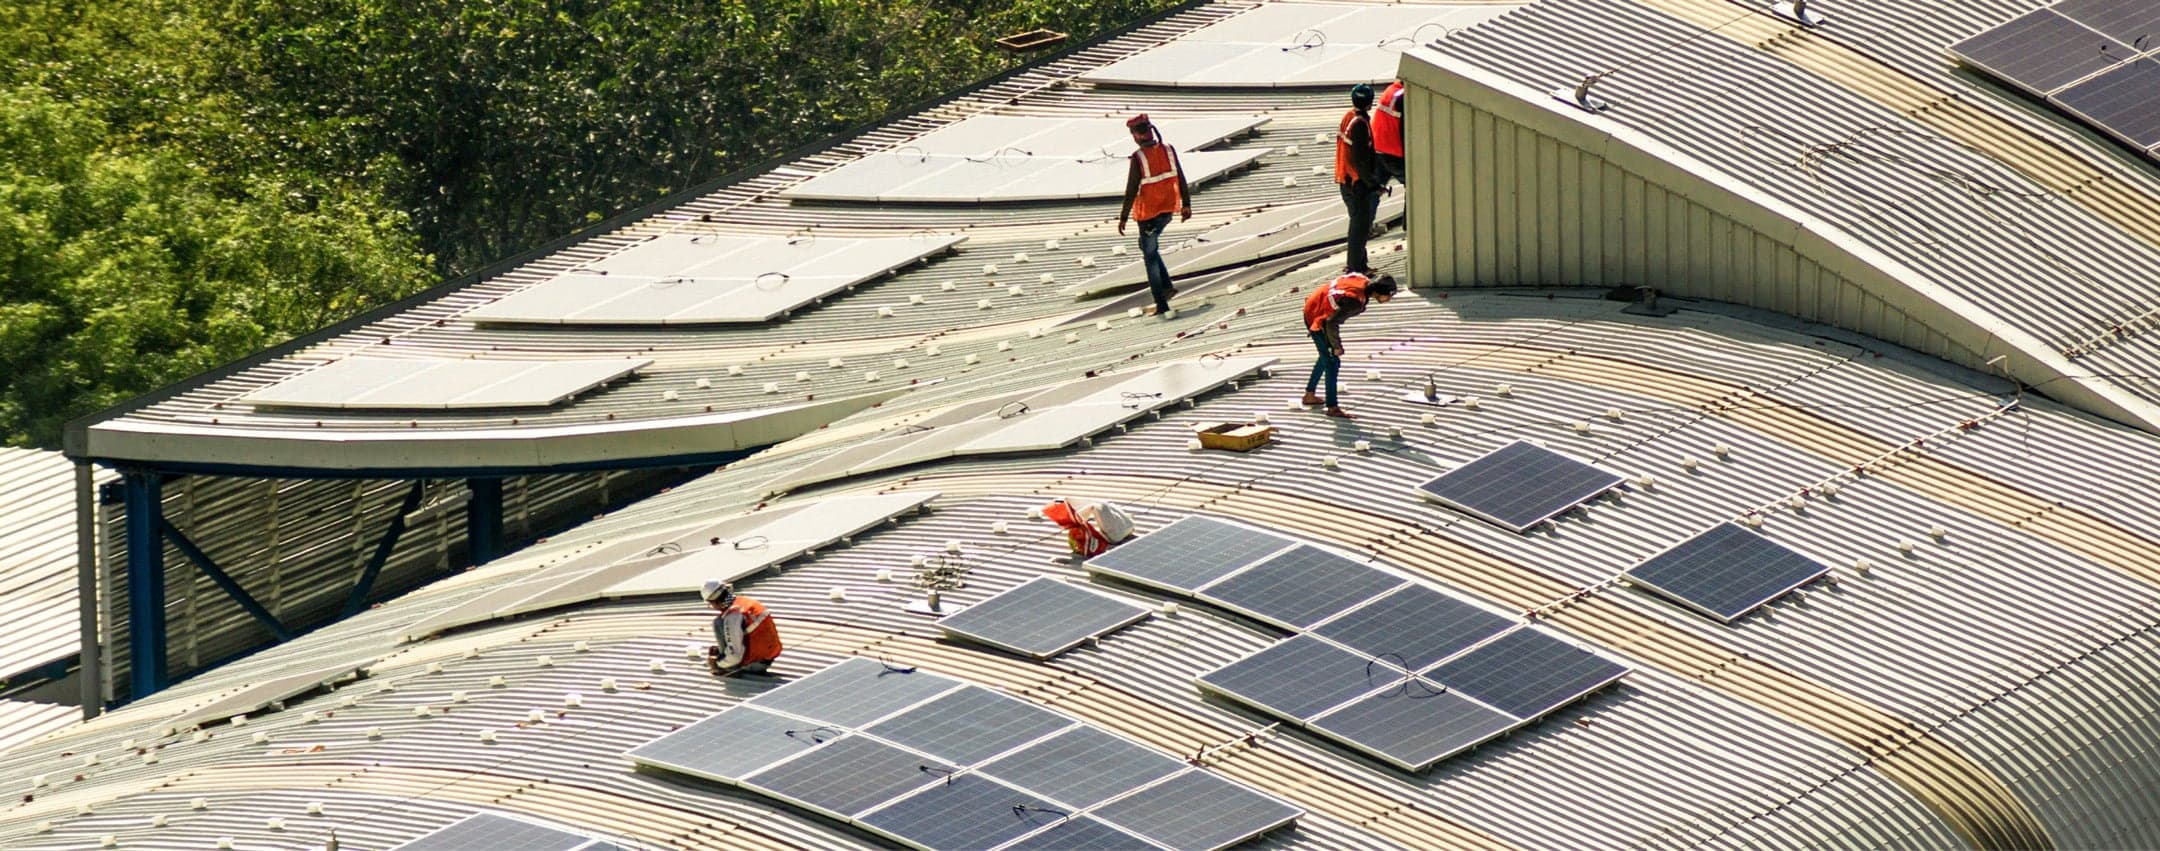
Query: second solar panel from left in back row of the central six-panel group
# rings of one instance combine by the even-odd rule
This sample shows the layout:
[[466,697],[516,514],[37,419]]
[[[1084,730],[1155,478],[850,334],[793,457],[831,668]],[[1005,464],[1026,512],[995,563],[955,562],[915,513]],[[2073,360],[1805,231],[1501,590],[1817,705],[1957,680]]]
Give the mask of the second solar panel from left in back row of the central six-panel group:
[[1298,544],[1203,587],[1201,596],[1296,631],[1402,583],[1402,577]]

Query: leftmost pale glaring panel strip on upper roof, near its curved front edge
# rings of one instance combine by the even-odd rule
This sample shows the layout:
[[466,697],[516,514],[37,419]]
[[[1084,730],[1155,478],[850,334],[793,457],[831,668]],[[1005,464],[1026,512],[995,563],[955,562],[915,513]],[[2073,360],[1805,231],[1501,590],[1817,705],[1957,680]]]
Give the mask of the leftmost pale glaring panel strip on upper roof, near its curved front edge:
[[544,408],[650,363],[350,356],[242,395],[240,402],[335,410]]

